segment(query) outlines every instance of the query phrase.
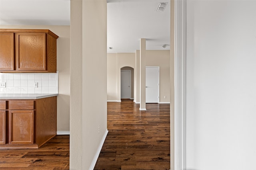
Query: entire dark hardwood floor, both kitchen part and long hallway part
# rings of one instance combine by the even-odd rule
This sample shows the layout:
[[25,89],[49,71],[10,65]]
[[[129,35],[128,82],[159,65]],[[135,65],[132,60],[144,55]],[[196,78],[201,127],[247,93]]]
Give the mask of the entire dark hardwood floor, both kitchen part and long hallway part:
[[[169,170],[170,104],[108,102],[108,135],[94,170]],[[0,170],[68,170],[69,135],[39,149],[1,149]]]

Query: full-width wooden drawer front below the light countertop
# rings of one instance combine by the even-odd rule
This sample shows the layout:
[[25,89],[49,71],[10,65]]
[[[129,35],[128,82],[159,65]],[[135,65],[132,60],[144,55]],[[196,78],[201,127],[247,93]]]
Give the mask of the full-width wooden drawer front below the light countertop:
[[33,100],[10,100],[10,110],[34,110]]

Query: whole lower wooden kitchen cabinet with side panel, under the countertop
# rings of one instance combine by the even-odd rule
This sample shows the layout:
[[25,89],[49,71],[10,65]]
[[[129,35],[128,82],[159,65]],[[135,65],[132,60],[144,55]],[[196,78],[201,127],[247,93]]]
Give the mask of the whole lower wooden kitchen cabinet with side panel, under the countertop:
[[57,97],[0,100],[0,148],[38,148],[57,134]]

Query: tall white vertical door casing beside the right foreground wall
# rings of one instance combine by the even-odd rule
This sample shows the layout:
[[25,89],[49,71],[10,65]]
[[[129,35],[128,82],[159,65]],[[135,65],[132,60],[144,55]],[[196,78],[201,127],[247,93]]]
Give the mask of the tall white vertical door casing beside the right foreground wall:
[[186,169],[186,0],[174,1],[174,170]]

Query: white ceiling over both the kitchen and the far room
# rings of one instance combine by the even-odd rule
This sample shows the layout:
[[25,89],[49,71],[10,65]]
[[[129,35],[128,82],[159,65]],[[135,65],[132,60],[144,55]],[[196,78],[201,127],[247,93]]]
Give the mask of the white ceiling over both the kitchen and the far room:
[[[141,38],[147,50],[170,44],[170,0],[108,0],[107,18],[108,53],[134,53]],[[70,25],[70,0],[0,0],[0,25]]]

